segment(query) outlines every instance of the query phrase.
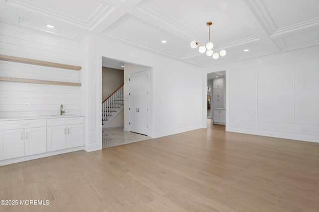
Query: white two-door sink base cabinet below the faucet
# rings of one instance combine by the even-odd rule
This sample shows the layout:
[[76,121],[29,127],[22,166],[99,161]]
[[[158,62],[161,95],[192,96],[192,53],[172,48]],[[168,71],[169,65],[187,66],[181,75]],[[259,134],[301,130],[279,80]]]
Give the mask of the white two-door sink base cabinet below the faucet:
[[83,146],[83,117],[47,121],[47,151]]

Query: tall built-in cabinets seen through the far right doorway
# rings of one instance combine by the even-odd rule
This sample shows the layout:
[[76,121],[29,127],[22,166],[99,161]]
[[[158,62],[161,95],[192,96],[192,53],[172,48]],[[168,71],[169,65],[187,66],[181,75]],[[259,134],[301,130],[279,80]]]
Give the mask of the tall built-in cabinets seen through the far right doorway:
[[213,123],[225,124],[224,77],[213,79]]

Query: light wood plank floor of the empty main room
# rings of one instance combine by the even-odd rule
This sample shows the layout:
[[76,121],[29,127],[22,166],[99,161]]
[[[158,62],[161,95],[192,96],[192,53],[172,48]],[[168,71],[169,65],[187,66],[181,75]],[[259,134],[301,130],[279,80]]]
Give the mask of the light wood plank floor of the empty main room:
[[224,126],[0,167],[1,212],[319,212],[319,143]]

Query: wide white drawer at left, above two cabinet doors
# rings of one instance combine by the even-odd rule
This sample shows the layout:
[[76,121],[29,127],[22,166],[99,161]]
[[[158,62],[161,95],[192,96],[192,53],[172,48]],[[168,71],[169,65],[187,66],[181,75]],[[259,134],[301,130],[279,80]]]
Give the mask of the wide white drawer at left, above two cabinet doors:
[[0,121],[0,130],[46,127],[46,119]]

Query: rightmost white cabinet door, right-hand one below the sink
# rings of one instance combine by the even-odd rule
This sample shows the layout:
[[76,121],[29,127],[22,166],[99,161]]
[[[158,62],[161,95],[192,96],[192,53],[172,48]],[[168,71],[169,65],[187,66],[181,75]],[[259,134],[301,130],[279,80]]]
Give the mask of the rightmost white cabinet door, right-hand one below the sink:
[[83,146],[83,124],[68,125],[66,147],[77,146]]

